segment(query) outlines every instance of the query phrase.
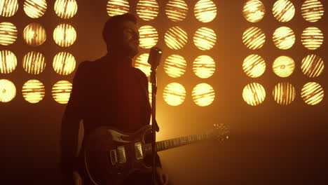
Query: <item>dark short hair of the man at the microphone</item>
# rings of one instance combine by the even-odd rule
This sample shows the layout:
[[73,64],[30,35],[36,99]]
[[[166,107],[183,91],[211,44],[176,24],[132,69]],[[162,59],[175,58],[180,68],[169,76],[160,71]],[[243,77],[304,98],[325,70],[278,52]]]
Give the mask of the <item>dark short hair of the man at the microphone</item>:
[[125,13],[123,15],[115,15],[107,20],[104,25],[104,29],[102,29],[102,38],[109,45],[110,37],[116,36],[116,34],[120,31],[120,24],[123,21],[131,21],[137,24],[137,18],[135,15],[131,13]]

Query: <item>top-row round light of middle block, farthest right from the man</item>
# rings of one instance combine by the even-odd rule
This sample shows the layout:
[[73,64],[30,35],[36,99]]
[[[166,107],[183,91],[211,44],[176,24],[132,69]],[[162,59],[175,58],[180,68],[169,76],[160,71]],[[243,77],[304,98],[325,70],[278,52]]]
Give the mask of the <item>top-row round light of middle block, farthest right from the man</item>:
[[217,16],[217,6],[210,0],[200,0],[193,9],[200,22],[211,22]]

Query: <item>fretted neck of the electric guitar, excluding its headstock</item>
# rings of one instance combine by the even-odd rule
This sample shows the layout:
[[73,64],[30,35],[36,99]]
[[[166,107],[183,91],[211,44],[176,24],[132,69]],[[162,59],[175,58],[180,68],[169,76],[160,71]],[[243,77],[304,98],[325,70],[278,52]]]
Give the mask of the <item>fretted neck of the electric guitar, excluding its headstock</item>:
[[[185,137],[177,137],[175,139],[163,140],[160,142],[156,142],[156,151],[165,151],[179,146],[200,142],[205,139],[210,139],[213,136],[214,135],[212,133],[208,132],[204,133],[203,135],[188,135]],[[151,144],[146,144],[144,149],[146,153],[151,153]]]

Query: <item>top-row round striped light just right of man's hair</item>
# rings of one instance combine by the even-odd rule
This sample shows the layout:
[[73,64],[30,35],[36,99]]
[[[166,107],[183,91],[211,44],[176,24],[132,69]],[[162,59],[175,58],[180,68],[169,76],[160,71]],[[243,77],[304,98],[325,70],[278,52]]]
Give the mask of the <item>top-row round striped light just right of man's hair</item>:
[[139,0],[137,3],[137,15],[142,20],[153,20],[157,17],[159,6],[156,0]]

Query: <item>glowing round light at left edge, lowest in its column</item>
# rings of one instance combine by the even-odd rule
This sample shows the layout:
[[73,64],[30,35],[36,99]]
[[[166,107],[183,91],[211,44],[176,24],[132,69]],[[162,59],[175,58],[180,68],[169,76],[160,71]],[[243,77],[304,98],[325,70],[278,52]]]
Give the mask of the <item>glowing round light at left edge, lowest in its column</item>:
[[0,79],[0,102],[10,102],[16,96],[16,88],[13,82]]

